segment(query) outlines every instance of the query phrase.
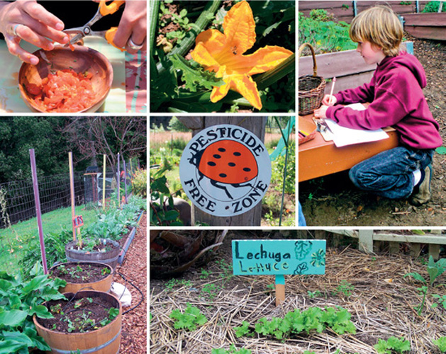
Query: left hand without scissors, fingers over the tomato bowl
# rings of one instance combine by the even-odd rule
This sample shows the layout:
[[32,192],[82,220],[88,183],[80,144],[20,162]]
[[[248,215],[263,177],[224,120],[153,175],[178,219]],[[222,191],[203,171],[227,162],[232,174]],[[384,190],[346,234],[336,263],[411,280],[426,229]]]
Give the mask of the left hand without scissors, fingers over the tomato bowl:
[[0,1],[0,32],[4,34],[9,52],[23,62],[35,65],[39,59],[19,45],[21,40],[53,50],[52,41],[65,44],[69,40],[63,29],[64,23],[35,0]]

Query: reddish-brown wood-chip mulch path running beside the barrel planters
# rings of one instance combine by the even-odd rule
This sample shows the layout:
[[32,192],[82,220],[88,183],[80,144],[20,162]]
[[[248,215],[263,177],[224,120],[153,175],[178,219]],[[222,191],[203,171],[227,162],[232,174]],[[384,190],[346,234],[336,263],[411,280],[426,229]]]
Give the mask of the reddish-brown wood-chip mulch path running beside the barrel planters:
[[[121,354],[145,354],[147,353],[147,215],[141,218],[140,225],[136,230],[126,258],[123,264],[116,269],[119,273],[133,284],[135,284],[144,294],[143,302],[123,314],[123,326],[121,330]],[[115,274],[114,281],[126,284],[121,275]],[[127,285],[132,295],[131,307],[140,302],[141,295],[132,285]],[[129,308],[124,307],[123,312]]]

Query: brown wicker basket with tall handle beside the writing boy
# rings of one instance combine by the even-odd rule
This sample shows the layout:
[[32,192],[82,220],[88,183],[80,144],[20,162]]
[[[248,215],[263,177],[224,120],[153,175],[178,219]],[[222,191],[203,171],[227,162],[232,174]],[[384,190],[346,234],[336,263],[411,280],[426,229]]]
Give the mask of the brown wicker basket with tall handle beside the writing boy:
[[311,55],[313,55],[313,75],[305,75],[299,77],[299,114],[306,115],[313,113],[320,107],[322,102],[325,79],[318,76],[318,66],[316,65],[316,55],[310,43],[303,43],[299,47],[299,57],[304,47],[309,47]]

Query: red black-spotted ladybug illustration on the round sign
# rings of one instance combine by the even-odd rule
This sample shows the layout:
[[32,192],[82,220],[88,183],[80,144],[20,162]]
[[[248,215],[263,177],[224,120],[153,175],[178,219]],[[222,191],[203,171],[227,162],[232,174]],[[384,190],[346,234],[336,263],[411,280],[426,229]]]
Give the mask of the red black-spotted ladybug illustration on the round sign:
[[[199,182],[206,176],[211,185],[225,191],[228,198],[233,199],[225,184],[233,187],[246,187],[259,172],[254,154],[233,140],[219,140],[194,154],[189,162],[199,171]],[[221,185],[220,183],[223,183]]]

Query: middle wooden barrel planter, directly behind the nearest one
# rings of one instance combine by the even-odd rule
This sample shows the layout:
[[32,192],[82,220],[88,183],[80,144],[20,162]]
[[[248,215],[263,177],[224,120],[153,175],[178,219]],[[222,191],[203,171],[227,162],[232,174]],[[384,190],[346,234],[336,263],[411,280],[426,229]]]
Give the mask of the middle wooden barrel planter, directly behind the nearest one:
[[[60,269],[64,268],[72,268],[72,267],[81,267],[86,273],[93,269],[94,273],[99,273],[99,280],[95,281],[87,281],[82,280],[80,275],[79,278],[75,278],[74,276],[70,276],[70,273],[61,274]],[[89,268],[89,270],[87,270]],[[102,274],[102,270],[106,269],[108,271],[105,274]],[[110,292],[111,282],[113,282],[113,268],[111,265],[106,263],[96,263],[96,262],[67,262],[61,263],[57,265],[53,265],[50,268],[50,273],[56,273],[54,276],[57,278],[62,278],[67,281],[67,285],[65,287],[60,287],[60,292],[78,292],[80,290],[96,290],[102,292]]]

